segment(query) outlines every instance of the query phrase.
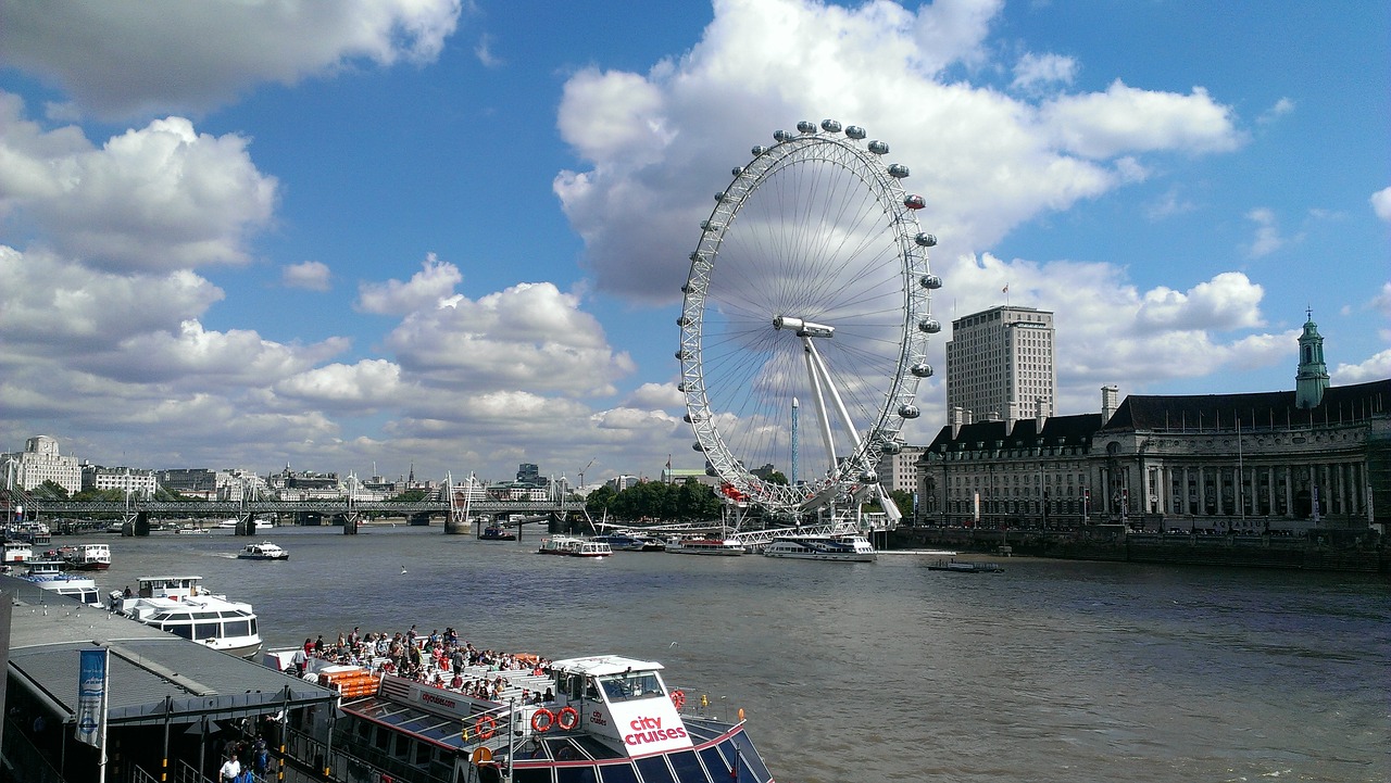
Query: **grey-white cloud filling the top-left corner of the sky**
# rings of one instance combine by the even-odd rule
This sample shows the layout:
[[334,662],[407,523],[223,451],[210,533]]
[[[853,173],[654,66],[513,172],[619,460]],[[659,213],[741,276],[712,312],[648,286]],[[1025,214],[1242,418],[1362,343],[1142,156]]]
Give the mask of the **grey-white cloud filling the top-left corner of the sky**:
[[460,0],[6,3],[0,65],[106,118],[198,111],[260,82],[438,57]]

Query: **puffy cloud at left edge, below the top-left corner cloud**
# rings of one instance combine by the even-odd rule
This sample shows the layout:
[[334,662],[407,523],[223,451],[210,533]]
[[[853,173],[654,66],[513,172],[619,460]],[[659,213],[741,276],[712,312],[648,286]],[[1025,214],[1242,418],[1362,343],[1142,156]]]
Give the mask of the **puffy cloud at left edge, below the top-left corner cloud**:
[[106,270],[160,271],[248,260],[277,181],[248,140],[156,120],[95,147],[74,127],[43,131],[0,95],[0,214],[60,253]]

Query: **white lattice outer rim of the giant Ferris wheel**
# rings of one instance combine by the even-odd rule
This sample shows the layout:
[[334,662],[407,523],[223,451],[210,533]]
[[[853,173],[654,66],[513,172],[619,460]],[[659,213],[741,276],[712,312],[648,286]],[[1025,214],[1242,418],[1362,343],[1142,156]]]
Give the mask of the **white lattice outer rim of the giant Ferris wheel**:
[[[887,152],[887,145],[878,140],[860,143],[864,140],[862,131],[858,135],[840,135],[839,129],[835,121],[822,122],[819,129],[803,122],[798,124],[798,134],[779,131],[775,134],[775,145],[754,147],[753,160],[733,171],[729,186],[716,195],[716,204],[709,218],[701,224],[701,239],[690,256],[691,268],[683,285],[684,299],[677,320],[682,330],[682,349],[677,352],[677,359],[682,364],[680,391],[686,398],[686,420],[696,433],[696,448],[705,455],[709,470],[732,490],[729,494],[773,510],[797,510],[821,505],[833,501],[835,495],[846,490],[853,490],[855,483],[878,481],[874,470],[881,452],[899,444],[904,420],[911,417],[910,412],[912,416],[917,414],[912,403],[918,380],[925,377],[919,370],[928,369],[926,373],[931,374],[931,367],[925,362],[928,334],[940,328],[929,314],[929,288],[932,288],[929,280],[940,285],[940,281],[929,273],[926,253],[929,245],[922,239],[931,235],[918,229],[914,216],[914,210],[922,204],[921,196],[907,195],[899,182],[907,175],[907,168],[897,164],[886,166],[881,160]],[[785,168],[810,160],[842,167],[860,186],[869,191],[871,202],[882,207],[885,221],[882,231],[892,235],[903,307],[894,369],[872,421],[840,465],[815,481],[798,487],[773,484],[755,476],[726,442],[715,421],[721,412],[712,407],[707,387],[704,321],[711,278],[721,249],[741,210]],[[932,242],[935,243],[935,238]],[[773,313],[773,317],[798,320],[796,313]],[[796,466],[796,456],[793,460]]]

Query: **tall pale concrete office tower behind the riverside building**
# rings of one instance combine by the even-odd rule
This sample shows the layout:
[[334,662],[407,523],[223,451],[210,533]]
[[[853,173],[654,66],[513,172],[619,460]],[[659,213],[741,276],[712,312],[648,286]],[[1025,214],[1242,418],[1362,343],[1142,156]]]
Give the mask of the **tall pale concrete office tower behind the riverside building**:
[[1053,416],[1057,371],[1053,313],[992,307],[951,321],[947,342],[947,416],[967,421]]

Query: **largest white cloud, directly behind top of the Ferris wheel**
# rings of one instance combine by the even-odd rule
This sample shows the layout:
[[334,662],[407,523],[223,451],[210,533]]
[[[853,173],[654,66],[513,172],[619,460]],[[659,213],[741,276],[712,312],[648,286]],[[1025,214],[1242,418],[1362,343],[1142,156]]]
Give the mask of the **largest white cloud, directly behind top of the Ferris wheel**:
[[[558,125],[587,166],[562,171],[554,189],[598,291],[673,302],[709,195],[750,146],[798,120],[832,117],[889,140],[947,253],[988,248],[1040,213],[1146,178],[1139,154],[1242,142],[1231,110],[1202,88],[1180,95],[1117,81],[1103,93],[1031,103],[939,79],[988,51],[997,13],[999,3],[965,0],[917,11],[721,0],[682,58],[645,74],[574,74]],[[1063,61],[1039,63],[1066,74]]]

